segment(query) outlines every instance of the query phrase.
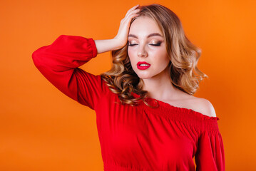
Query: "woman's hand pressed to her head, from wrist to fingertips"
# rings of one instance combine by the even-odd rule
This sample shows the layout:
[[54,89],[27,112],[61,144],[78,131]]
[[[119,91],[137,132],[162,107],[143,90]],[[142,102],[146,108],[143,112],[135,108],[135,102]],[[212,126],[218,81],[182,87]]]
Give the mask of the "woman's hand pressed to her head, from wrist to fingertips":
[[123,46],[126,46],[126,43],[128,41],[128,32],[130,27],[130,21],[135,16],[138,16],[138,11],[140,9],[136,9],[139,5],[133,6],[133,8],[129,9],[126,13],[125,18],[121,20],[121,24],[119,26],[118,34],[116,35],[115,39],[118,44],[120,45],[119,48],[122,48]]

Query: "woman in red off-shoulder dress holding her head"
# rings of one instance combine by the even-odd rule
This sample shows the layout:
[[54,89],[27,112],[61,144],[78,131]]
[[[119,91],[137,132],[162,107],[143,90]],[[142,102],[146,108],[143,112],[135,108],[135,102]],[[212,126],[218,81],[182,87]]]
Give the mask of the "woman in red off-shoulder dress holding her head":
[[[78,68],[106,51],[111,71]],[[133,6],[113,39],[61,35],[32,56],[56,88],[96,111],[104,170],[225,170],[219,118],[193,96],[207,77],[200,49],[170,9]]]

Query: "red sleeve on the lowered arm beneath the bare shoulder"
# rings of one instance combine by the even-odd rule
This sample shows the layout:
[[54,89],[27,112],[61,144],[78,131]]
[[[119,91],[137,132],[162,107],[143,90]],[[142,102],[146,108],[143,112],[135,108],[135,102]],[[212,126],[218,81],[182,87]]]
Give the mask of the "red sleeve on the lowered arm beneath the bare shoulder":
[[222,136],[217,127],[219,118],[212,118],[209,128],[205,128],[198,140],[198,149],[195,154],[197,171],[225,170],[225,155]]

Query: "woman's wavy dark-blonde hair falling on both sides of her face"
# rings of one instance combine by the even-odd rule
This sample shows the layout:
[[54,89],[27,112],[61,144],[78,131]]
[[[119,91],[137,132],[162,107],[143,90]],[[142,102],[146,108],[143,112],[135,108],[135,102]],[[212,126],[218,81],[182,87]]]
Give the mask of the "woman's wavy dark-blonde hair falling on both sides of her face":
[[[132,22],[140,17],[150,17],[158,24],[166,42],[166,51],[170,63],[168,71],[170,80],[175,86],[189,95],[193,95],[199,88],[200,81],[208,76],[201,72],[197,65],[201,56],[201,50],[193,45],[185,36],[183,26],[178,16],[170,9],[160,4],[139,6],[139,14],[133,18]],[[143,80],[133,71],[128,56],[128,43],[123,48],[111,51],[113,65],[110,71],[101,73],[101,78],[106,82],[108,88],[118,94],[122,104],[131,106],[138,105],[142,100],[148,98],[148,91],[142,90]],[[140,95],[139,98],[133,97],[133,93]],[[152,106],[150,106],[152,107]]]

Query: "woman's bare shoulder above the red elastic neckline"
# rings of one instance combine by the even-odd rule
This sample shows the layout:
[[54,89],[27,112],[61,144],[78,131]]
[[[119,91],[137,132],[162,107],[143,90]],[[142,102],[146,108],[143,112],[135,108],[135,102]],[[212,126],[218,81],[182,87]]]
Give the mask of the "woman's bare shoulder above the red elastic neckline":
[[208,115],[210,117],[216,117],[215,109],[212,103],[205,98],[197,98],[193,96],[191,101],[191,106],[196,112],[202,113],[203,115]]

